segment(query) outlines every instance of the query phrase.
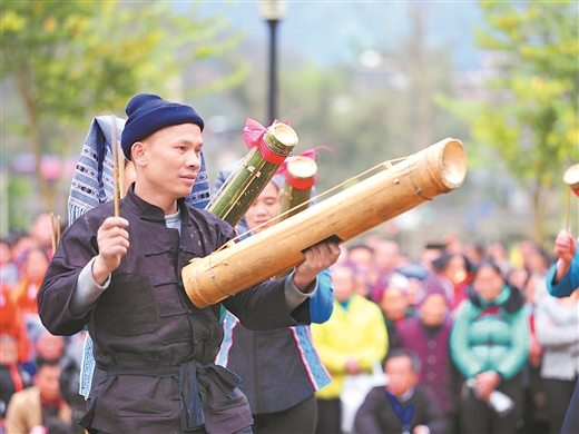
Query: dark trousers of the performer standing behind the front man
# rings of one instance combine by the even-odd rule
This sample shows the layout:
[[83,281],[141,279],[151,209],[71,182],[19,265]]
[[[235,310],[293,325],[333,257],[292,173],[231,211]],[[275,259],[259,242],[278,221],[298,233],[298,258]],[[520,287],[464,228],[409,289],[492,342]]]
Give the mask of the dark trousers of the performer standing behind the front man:
[[302,401],[283,412],[254,414],[255,434],[313,434],[315,431],[315,396]]

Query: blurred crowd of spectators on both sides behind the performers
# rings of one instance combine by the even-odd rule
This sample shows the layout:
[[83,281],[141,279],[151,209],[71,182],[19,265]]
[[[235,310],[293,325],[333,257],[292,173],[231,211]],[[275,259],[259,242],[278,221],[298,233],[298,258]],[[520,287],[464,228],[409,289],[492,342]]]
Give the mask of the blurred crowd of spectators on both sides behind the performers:
[[[3,428],[78,432],[85,332],[52,336],[37,310],[52,254],[50,215],[39,214],[28,231],[11,231],[0,247]],[[349,377],[381,372],[386,361],[387,396],[424,389],[414,393],[423,400],[413,422],[423,420],[432,432],[559,433],[579,373],[579,293],[547,293],[549,253],[527,239],[483,246],[452,234],[425,243],[418,257],[374,234],[342,250],[332,268],[334,313],[312,326],[333,377],[316,395],[317,432],[373,432],[387,423],[380,413],[393,406],[373,403],[369,389],[361,397],[343,389]],[[502,415],[478,398],[494,389],[512,401]]]

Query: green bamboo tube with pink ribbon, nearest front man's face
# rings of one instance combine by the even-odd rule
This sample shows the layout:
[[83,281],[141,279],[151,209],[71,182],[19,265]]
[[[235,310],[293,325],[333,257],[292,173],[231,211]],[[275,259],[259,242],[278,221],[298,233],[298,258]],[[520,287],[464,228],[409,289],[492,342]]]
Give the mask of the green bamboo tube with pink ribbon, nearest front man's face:
[[[267,128],[264,142],[269,151],[287,157],[297,145],[297,135],[285,124],[274,124]],[[268,162],[257,147],[253,148],[237,166],[227,186],[218,193],[206,209],[229,225],[237,225],[282,162]]]

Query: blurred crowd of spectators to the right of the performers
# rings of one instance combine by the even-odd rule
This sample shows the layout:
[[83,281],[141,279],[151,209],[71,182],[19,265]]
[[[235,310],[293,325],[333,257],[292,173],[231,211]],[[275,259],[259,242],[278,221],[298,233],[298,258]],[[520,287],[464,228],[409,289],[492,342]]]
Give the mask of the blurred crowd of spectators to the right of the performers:
[[[579,374],[579,289],[567,298],[548,294],[553,259],[528,239],[482,246],[452,235],[415,259],[375,236],[343,246],[333,268],[351,268],[357,296],[380,307],[384,322],[375,327],[387,335],[380,354],[386,379],[367,382],[355,424],[343,432],[559,433]],[[336,296],[337,305],[347,310]],[[352,325],[333,336],[347,361],[336,366],[316,327],[322,361],[346,375],[357,357],[349,349],[367,332]],[[406,388],[395,385],[401,376]],[[333,396],[347,401],[349,391],[335,388]],[[317,396],[321,420],[325,395]]]

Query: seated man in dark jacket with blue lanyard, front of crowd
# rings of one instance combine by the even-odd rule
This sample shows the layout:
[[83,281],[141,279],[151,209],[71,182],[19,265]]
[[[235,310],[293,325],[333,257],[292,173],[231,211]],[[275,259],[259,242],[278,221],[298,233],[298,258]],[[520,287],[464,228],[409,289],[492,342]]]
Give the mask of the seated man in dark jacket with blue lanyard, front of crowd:
[[420,384],[421,362],[416,353],[396,348],[386,357],[389,382],[370,391],[356,413],[360,434],[446,434],[449,426],[436,398]]

